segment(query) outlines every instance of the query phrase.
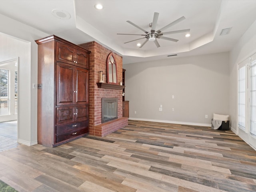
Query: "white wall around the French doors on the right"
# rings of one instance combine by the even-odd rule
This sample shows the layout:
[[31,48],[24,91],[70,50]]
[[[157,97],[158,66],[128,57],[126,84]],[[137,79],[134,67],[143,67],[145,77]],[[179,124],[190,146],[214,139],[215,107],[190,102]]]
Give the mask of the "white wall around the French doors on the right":
[[231,127],[237,131],[237,64],[256,53],[256,21],[230,51],[230,115]]

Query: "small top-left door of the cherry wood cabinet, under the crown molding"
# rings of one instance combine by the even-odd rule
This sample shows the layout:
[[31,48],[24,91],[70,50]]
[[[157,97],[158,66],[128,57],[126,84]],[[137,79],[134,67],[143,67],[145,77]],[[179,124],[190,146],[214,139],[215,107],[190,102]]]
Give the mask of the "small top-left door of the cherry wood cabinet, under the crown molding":
[[76,63],[76,53],[73,47],[56,42],[57,61],[74,65]]

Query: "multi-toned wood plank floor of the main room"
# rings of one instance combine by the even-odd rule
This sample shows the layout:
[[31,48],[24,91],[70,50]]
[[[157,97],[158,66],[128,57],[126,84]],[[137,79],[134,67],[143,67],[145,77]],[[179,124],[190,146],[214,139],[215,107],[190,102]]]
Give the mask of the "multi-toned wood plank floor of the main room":
[[129,121],[104,138],[0,153],[19,192],[255,192],[256,151],[231,131]]

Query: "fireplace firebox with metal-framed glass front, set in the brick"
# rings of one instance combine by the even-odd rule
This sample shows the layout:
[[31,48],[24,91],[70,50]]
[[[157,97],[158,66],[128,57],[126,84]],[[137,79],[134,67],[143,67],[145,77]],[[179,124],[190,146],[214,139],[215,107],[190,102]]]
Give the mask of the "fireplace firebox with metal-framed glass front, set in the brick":
[[102,98],[102,123],[117,119],[118,99]]

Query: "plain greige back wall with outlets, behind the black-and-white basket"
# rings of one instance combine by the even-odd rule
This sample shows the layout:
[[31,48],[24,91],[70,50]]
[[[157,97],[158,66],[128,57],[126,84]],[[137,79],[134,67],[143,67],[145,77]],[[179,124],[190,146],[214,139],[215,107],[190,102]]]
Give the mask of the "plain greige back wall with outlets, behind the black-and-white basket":
[[125,64],[123,68],[130,119],[210,126],[213,113],[229,114],[227,52]]

